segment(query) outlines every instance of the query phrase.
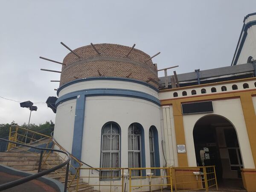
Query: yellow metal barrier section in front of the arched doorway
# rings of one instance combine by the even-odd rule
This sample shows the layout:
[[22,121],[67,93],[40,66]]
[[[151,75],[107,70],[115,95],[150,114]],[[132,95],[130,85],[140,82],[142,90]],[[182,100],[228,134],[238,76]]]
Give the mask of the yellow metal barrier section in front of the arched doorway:
[[218,190],[215,166],[174,167],[171,170],[175,192],[206,190],[215,186]]

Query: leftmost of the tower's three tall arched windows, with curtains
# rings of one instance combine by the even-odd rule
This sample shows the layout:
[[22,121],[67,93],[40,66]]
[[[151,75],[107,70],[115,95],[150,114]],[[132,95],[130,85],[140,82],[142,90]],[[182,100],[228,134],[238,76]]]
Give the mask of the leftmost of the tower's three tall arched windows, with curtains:
[[[120,128],[115,122],[102,127],[101,167],[115,168],[120,163]],[[119,171],[101,171],[102,177],[118,177]]]

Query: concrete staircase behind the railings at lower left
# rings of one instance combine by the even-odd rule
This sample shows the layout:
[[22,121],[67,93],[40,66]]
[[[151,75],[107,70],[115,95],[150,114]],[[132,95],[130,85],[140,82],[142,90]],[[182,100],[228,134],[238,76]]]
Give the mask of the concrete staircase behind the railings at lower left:
[[[54,167],[60,163],[62,163],[61,158],[56,153],[51,153],[50,157],[47,158],[47,164],[42,165],[41,169],[49,169]],[[45,159],[46,157],[44,157]],[[23,152],[0,152],[0,164],[12,167],[14,169],[25,171],[29,173],[37,173],[38,165],[39,165],[40,154],[36,156],[33,153],[23,153]],[[66,167],[56,170],[55,172],[49,173],[45,175],[46,177],[50,177],[52,179],[58,180],[61,183],[65,183],[65,175],[66,175]],[[69,172],[68,176],[68,186],[73,178],[73,175]],[[79,192],[99,192],[95,191],[93,186],[86,186],[87,183],[83,182],[82,179],[78,180],[79,184]],[[76,192],[76,183],[77,179],[73,180],[73,184],[68,189],[69,192]]]

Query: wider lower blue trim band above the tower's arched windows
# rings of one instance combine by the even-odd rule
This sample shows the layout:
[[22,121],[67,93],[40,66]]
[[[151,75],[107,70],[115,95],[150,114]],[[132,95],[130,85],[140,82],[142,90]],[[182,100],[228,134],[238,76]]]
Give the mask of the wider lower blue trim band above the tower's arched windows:
[[132,97],[138,99],[144,99],[154,104],[160,106],[160,100],[156,97],[149,95],[148,93],[143,93],[135,90],[127,90],[127,89],[85,89],[74,91],[71,93],[67,93],[61,97],[59,97],[55,103],[55,107],[61,102],[65,102],[71,99],[76,99],[77,96],[124,96],[124,97]]

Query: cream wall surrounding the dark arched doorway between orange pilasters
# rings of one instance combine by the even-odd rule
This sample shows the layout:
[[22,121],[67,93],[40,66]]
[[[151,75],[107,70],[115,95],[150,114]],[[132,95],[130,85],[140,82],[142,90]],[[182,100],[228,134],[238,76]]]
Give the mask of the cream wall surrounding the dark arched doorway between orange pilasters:
[[246,125],[240,99],[225,99],[212,101],[214,113],[200,113],[183,116],[186,151],[189,166],[197,166],[193,139],[193,128],[201,117],[207,114],[221,115],[227,118],[235,127],[244,168],[254,169],[253,155],[250,148]]

